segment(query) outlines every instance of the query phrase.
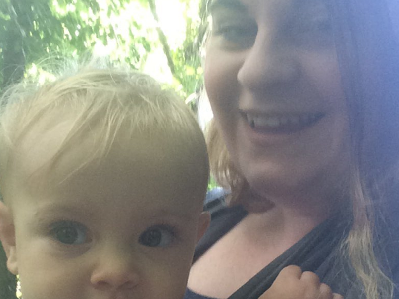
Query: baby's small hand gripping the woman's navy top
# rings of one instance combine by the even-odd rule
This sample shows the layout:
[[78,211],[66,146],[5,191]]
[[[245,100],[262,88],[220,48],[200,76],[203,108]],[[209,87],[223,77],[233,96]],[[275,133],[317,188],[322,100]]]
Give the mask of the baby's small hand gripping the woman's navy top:
[[344,299],[331,288],[320,283],[313,272],[302,272],[298,266],[280,271],[272,286],[259,299]]

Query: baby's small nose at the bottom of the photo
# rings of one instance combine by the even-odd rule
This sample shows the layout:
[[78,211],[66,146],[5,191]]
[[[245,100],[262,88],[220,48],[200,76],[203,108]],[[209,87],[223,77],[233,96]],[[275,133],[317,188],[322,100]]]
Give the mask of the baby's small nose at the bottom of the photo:
[[90,282],[96,289],[127,290],[140,283],[138,266],[131,254],[106,251],[96,258]]

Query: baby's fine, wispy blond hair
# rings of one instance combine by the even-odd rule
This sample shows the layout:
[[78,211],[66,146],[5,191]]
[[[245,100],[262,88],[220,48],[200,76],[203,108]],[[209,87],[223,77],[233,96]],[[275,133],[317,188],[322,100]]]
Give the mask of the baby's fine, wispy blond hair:
[[72,126],[43,169],[49,170],[82,140],[82,136],[93,138],[92,152],[68,174],[73,175],[105,157],[123,128],[123,138],[129,142],[134,142],[134,136],[139,134],[159,150],[167,148],[173,154],[174,149],[179,153],[183,149],[187,157],[176,159],[194,165],[191,169],[197,173],[187,175],[198,180],[198,188],[205,193],[209,172],[206,145],[193,113],[184,102],[150,76],[136,71],[92,67],[81,68],[76,74],[43,86],[15,85],[3,94],[0,106],[1,191],[6,187],[7,175],[17,159],[14,153],[24,137],[43,119],[49,119],[52,126],[65,120],[65,114]]

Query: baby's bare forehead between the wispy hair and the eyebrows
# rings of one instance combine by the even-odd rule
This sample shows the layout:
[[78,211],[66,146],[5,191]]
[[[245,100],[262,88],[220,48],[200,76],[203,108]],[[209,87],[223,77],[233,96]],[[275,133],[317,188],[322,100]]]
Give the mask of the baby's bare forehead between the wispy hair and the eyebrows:
[[179,142],[160,134],[125,133],[121,128],[109,148],[97,152],[101,140],[94,127],[62,151],[73,120],[49,121],[38,123],[26,134],[15,157],[14,186],[23,182],[25,192],[55,192],[51,196],[62,195],[61,202],[69,197],[116,200],[126,194],[173,206],[193,196],[202,202],[206,165]]

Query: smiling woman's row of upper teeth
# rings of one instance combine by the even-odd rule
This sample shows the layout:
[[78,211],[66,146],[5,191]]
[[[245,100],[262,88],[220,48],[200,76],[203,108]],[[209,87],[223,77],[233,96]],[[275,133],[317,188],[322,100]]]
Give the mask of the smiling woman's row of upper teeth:
[[251,128],[301,128],[313,125],[323,117],[321,113],[265,116],[246,114]]

